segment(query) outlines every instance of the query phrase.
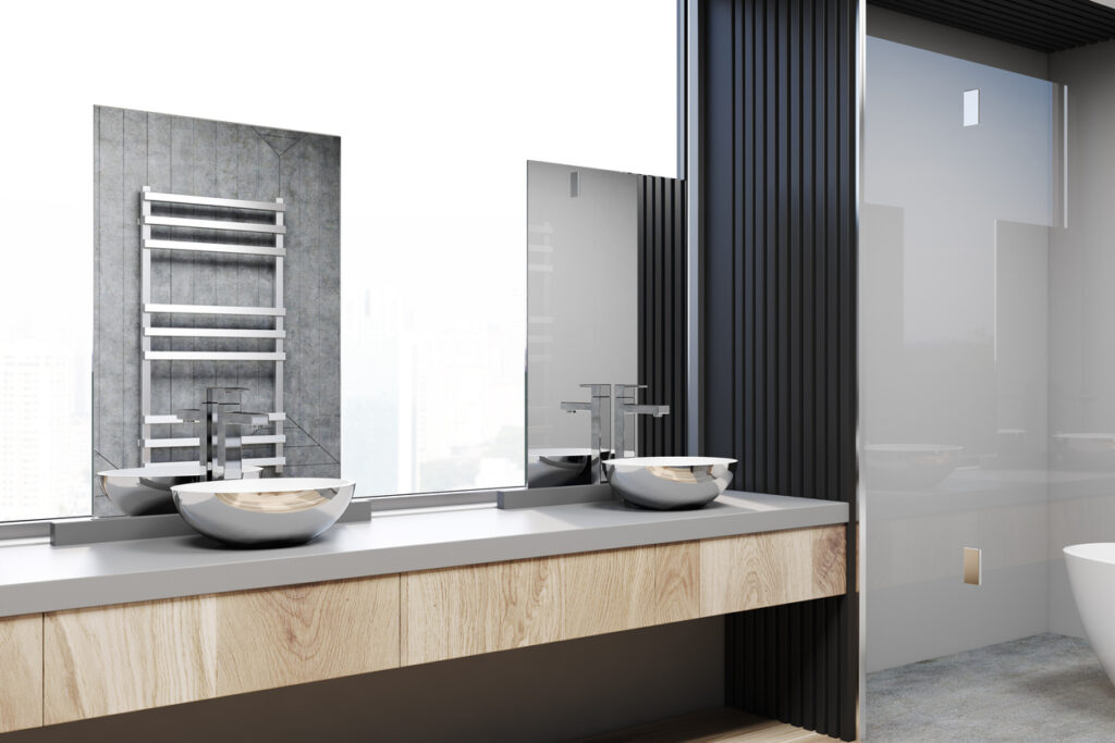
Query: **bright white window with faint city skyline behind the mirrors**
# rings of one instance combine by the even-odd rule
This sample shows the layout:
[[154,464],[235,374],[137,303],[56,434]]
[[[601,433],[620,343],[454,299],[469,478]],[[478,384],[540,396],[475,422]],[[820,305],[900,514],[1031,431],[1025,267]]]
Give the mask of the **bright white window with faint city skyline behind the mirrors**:
[[89,507],[94,104],[340,135],[343,473],[515,485],[525,162],[673,175],[675,25],[671,0],[8,8],[0,519]]

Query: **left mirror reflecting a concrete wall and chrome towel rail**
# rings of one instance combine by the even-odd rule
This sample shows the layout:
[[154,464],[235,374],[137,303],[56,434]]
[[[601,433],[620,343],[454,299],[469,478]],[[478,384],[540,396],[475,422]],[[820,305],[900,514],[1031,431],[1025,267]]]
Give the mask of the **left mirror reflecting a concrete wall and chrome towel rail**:
[[98,106],[94,514],[338,477],[340,138]]

